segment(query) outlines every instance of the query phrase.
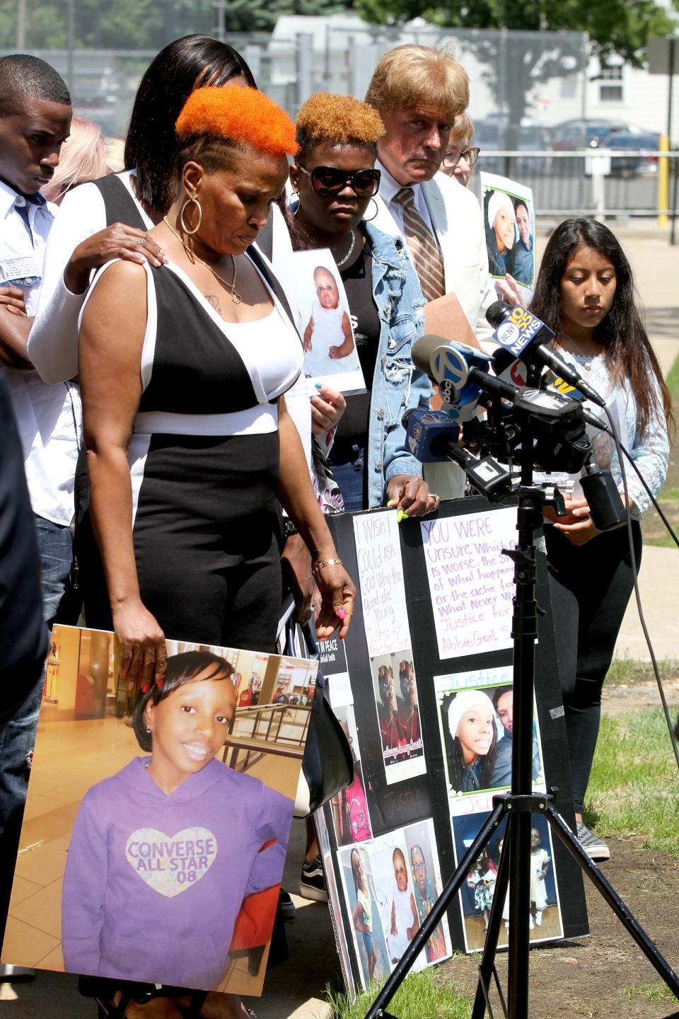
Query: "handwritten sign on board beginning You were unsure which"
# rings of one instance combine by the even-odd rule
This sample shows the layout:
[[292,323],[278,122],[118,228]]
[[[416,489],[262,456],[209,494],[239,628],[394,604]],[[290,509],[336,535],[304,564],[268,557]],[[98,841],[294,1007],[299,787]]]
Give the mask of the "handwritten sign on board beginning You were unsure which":
[[[516,511],[422,521],[422,543],[441,659],[512,646]],[[362,590],[362,587],[361,587]]]

